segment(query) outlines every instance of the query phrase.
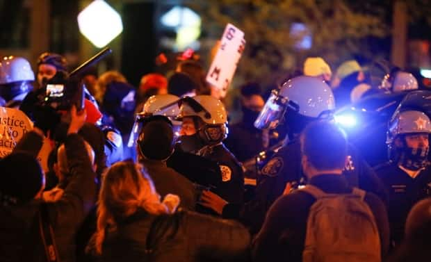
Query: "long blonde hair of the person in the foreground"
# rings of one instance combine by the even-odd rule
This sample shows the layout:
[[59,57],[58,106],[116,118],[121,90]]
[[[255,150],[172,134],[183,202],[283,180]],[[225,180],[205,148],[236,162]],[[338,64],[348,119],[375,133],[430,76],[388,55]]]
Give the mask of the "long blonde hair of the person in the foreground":
[[99,193],[94,239],[97,254],[101,254],[106,229],[115,229],[119,220],[133,215],[138,208],[154,215],[170,213],[142,166],[131,161],[115,163],[106,172]]

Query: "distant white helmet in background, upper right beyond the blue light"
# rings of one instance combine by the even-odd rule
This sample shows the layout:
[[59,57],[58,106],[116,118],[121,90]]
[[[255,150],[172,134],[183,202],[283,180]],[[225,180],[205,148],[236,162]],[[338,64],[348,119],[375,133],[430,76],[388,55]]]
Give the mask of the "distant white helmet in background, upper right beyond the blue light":
[[413,74],[397,71],[385,75],[379,88],[393,93],[417,90],[418,81]]

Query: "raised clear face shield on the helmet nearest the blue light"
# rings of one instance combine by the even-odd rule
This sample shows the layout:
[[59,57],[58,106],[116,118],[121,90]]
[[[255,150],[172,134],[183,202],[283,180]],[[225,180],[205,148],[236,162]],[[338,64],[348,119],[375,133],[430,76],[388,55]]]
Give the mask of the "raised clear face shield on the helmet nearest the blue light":
[[274,129],[282,121],[287,106],[288,99],[280,97],[277,90],[273,90],[257,120],[254,121],[254,126],[257,129]]

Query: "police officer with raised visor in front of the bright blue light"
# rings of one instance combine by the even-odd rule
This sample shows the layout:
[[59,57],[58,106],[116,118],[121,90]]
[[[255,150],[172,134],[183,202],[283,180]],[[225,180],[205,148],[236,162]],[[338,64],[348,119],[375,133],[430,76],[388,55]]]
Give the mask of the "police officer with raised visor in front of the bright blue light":
[[[225,218],[239,218],[252,231],[261,227],[266,211],[275,199],[288,188],[304,183],[301,168],[301,152],[298,134],[313,121],[331,117],[335,108],[330,87],[313,76],[298,76],[288,80],[280,90],[273,90],[254,125],[259,128],[274,128],[284,122],[288,128],[287,142],[263,165],[257,179],[256,195],[243,206],[223,203],[211,193],[204,194],[206,206],[217,209]],[[377,193],[386,199],[381,181],[351,147],[348,163],[343,172],[350,186]],[[287,189],[287,190],[286,190]],[[221,207],[221,208],[220,208]]]

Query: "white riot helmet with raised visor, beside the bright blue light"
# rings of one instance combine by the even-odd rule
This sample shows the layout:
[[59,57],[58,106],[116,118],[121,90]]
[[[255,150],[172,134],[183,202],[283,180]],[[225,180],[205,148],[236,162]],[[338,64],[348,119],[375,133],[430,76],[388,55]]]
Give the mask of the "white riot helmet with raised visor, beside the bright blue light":
[[298,76],[288,80],[279,90],[273,90],[254,126],[275,128],[282,122],[287,108],[311,118],[323,117],[335,108],[331,88],[313,76]]

